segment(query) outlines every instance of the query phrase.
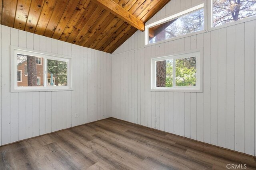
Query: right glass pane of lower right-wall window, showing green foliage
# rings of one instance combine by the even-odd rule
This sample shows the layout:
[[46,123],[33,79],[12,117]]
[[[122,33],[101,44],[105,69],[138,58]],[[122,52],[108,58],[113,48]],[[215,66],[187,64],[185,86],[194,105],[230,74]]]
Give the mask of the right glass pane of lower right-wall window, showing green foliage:
[[175,85],[196,86],[196,57],[175,60]]

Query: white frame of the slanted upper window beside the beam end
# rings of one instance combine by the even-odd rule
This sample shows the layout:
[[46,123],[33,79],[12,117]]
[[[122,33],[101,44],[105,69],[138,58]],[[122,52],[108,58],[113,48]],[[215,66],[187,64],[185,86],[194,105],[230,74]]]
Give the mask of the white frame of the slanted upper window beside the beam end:
[[[197,11],[199,9],[202,9],[202,8],[204,8],[204,30],[197,31],[197,32],[194,32],[194,33],[185,34],[185,35],[181,35],[181,36],[178,36],[178,37],[172,37],[170,39],[165,39],[165,40],[158,41],[158,42],[155,42],[155,43],[149,43],[148,33],[149,33],[150,28],[155,27],[157,25],[160,25],[162,23],[166,23],[168,21],[174,20],[176,18],[180,18],[181,16],[184,16],[186,14],[190,14],[190,13],[192,13],[194,11]],[[158,21],[155,21],[155,22],[152,22],[152,23],[147,23],[145,25],[145,46],[164,43],[164,42],[167,42],[167,41],[172,41],[172,40],[175,40],[175,39],[180,39],[182,37],[188,37],[188,36],[191,36],[191,35],[196,35],[196,34],[204,33],[204,32],[207,32],[207,1],[206,0],[204,2],[200,2],[198,4],[194,4],[194,5],[190,6],[189,8],[185,8],[183,10],[175,12],[175,13],[169,15],[169,16],[166,16],[165,18],[163,18],[161,20],[158,20]]]

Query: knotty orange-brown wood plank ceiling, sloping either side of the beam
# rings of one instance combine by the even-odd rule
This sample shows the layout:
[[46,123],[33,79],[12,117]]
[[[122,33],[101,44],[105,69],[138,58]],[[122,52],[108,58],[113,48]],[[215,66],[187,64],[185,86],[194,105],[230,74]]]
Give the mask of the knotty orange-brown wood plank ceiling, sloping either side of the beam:
[[[146,23],[170,0],[113,0]],[[101,2],[110,0],[1,0],[1,24],[107,53],[138,29]],[[120,9],[116,6],[116,9]],[[114,8],[115,9],[115,8]],[[112,13],[111,13],[112,12]],[[122,18],[122,19],[121,19]],[[137,20],[136,19],[136,20]],[[127,22],[126,22],[127,21]]]

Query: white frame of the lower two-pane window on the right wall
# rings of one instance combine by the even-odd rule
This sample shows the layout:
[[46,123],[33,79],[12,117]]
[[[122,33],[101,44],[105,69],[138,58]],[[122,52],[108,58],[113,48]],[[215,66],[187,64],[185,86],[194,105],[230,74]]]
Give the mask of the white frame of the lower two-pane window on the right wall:
[[[162,55],[151,59],[151,91],[168,91],[168,92],[202,92],[203,84],[203,53],[202,50],[185,51],[182,53],[172,53],[170,55]],[[196,57],[196,86],[175,86],[175,59],[184,59]],[[156,62],[163,60],[173,60],[173,86],[174,87],[156,87]]]

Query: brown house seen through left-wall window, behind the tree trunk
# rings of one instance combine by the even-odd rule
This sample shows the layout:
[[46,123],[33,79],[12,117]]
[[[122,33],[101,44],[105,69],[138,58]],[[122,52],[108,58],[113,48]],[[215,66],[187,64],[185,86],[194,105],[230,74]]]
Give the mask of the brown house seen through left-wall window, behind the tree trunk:
[[[44,86],[44,58],[36,57],[37,84]],[[28,86],[28,65],[25,55],[18,55],[17,59],[18,86]]]

